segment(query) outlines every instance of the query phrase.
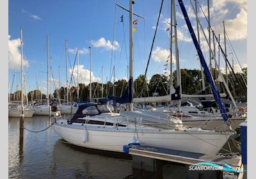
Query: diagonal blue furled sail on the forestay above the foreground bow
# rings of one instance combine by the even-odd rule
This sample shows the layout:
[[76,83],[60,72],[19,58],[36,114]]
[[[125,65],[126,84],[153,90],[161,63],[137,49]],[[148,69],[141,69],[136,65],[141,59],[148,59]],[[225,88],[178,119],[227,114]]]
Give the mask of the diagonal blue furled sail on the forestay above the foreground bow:
[[194,42],[194,45],[196,47],[196,51],[198,52],[198,56],[200,58],[200,63],[204,67],[205,77],[206,77],[207,81],[209,82],[209,84],[211,85],[211,89],[212,89],[214,99],[216,100],[216,102],[218,104],[218,107],[220,109],[220,113],[221,113],[221,116],[222,116],[223,120],[226,122],[228,120],[228,116],[227,116],[226,109],[225,109],[224,105],[221,102],[220,93],[216,89],[216,86],[215,86],[215,84],[212,80],[211,72],[209,71],[209,68],[208,68],[207,64],[205,63],[204,55],[203,55],[203,53],[200,49],[200,46],[198,44],[198,41],[196,39],[195,32],[194,32],[193,27],[191,25],[191,22],[189,20],[188,13],[187,13],[186,8],[183,4],[183,1],[182,0],[178,0],[178,1],[179,1],[179,4],[180,4],[180,9],[183,13],[184,19],[186,20],[186,24],[188,26],[189,33],[190,33],[191,38],[192,38],[192,40]]

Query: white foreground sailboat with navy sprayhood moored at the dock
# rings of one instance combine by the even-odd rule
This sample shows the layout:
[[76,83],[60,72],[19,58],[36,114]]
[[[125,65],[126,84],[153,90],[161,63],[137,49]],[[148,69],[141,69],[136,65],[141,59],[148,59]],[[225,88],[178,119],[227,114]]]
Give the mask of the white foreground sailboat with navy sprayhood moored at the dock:
[[[99,108],[99,105],[92,103],[83,104],[79,106],[77,113],[70,120],[56,121],[53,125],[54,131],[68,143],[98,150],[123,152],[123,146],[125,144],[140,143],[146,144],[147,146],[215,155],[220,151],[229,137],[236,134],[236,132],[228,130],[228,128],[221,132],[203,130],[201,128],[188,128],[182,125],[182,121],[179,120],[179,118],[175,118],[175,120],[170,118],[169,123],[172,125],[172,128],[163,129],[141,123],[141,118],[148,118],[145,114],[140,114],[138,118],[134,118],[134,116],[136,116],[136,111],[133,111],[134,107],[132,101],[132,0],[129,1],[129,4],[130,77],[127,91],[121,99],[126,100],[128,103],[130,114],[128,116],[105,115],[105,112]],[[172,8],[173,7],[175,7],[174,1],[172,1]],[[188,19],[188,15],[184,15],[184,17],[185,16]],[[194,33],[193,28],[189,25],[188,27],[189,29],[192,29],[191,33]],[[202,61],[204,61],[204,56],[201,56],[201,58]],[[205,71],[207,71],[207,69]],[[216,98],[219,97],[216,96]],[[223,104],[220,103],[219,105],[221,108]],[[221,108],[221,112],[223,112],[223,119],[227,121],[227,113],[225,109]],[[133,118],[133,121],[129,118]],[[154,116],[151,118],[154,118]]]

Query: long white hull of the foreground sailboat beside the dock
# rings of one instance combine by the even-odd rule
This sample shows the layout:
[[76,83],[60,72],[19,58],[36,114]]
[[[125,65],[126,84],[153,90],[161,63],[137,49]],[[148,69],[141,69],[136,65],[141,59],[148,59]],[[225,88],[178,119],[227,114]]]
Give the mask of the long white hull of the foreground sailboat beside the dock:
[[[113,127],[85,127],[68,125],[64,120],[58,121],[53,127],[54,131],[69,143],[86,148],[115,152],[123,152],[123,146],[131,143],[132,138],[136,136],[132,128],[118,127],[117,130]],[[88,140],[83,143],[85,130],[88,131]],[[226,134],[214,131],[138,129],[138,139],[141,144],[211,155],[218,153],[232,135],[232,133]]]

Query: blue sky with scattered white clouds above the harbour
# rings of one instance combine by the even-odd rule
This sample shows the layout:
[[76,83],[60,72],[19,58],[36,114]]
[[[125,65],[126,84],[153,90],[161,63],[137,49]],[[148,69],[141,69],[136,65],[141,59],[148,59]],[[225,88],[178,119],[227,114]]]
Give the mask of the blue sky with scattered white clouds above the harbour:
[[[9,89],[11,92],[20,88],[20,27],[23,33],[24,72],[26,73],[26,89],[39,89],[46,92],[47,81],[47,51],[46,36],[49,35],[49,79],[52,82],[51,91],[65,86],[65,39],[68,48],[68,83],[70,74],[79,49],[79,82],[88,84],[90,81],[90,53],[92,47],[92,81],[101,82],[103,66],[103,82],[111,78],[111,70],[115,65],[115,79],[127,79],[127,65],[129,64],[129,13],[115,6],[114,0],[38,0],[19,1],[9,0]],[[195,1],[193,1],[195,2]],[[207,1],[198,0],[203,12],[207,16]],[[129,9],[129,1],[117,1],[118,4]],[[195,33],[195,13],[188,0],[184,1]],[[200,69],[200,61],[196,56],[195,46],[188,33],[186,22],[179,4],[177,10],[177,36],[179,47],[180,68]],[[134,79],[145,73],[150,48],[156,30],[157,18],[161,1],[135,1],[134,13],[144,17],[138,19],[134,32]],[[242,67],[247,64],[247,1],[246,0],[212,0],[210,1],[211,26],[216,34],[220,33],[221,47],[224,49],[223,20],[227,31],[228,60],[234,59],[235,71],[239,71],[237,59]],[[204,13],[198,8],[200,22],[206,35],[207,21]],[[123,21],[120,17],[123,15]],[[170,55],[170,1],[164,1],[160,14],[156,40],[152,49],[147,77],[159,73],[164,74],[164,64]],[[205,59],[209,64],[209,47],[200,31],[200,40]],[[211,40],[212,41],[212,40]],[[217,47],[217,46],[216,46]],[[173,45],[174,48],[174,45]],[[213,49],[213,45],[212,45]],[[234,49],[234,51],[232,50]],[[218,49],[216,50],[218,57]],[[173,51],[175,59],[175,51]],[[224,69],[224,61],[220,56],[220,66]],[[59,67],[60,66],[60,67]],[[71,67],[70,67],[71,66]],[[168,70],[170,65],[167,66]],[[176,63],[173,65],[176,69]],[[60,73],[59,73],[60,69]],[[52,71],[52,72],[51,72]],[[74,78],[77,79],[77,61],[74,66]],[[168,74],[168,71],[166,72]],[[15,75],[15,82],[13,82]],[[53,78],[52,78],[53,75]],[[60,78],[59,78],[60,76]],[[54,81],[53,81],[54,79]],[[113,75],[112,75],[113,79]]]

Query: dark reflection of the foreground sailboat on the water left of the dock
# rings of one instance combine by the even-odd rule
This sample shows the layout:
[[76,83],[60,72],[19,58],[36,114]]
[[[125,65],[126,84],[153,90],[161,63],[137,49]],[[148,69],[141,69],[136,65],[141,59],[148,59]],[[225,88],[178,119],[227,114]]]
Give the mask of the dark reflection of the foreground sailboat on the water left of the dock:
[[125,178],[132,172],[131,160],[84,153],[61,140],[54,144],[53,154],[54,178]]

